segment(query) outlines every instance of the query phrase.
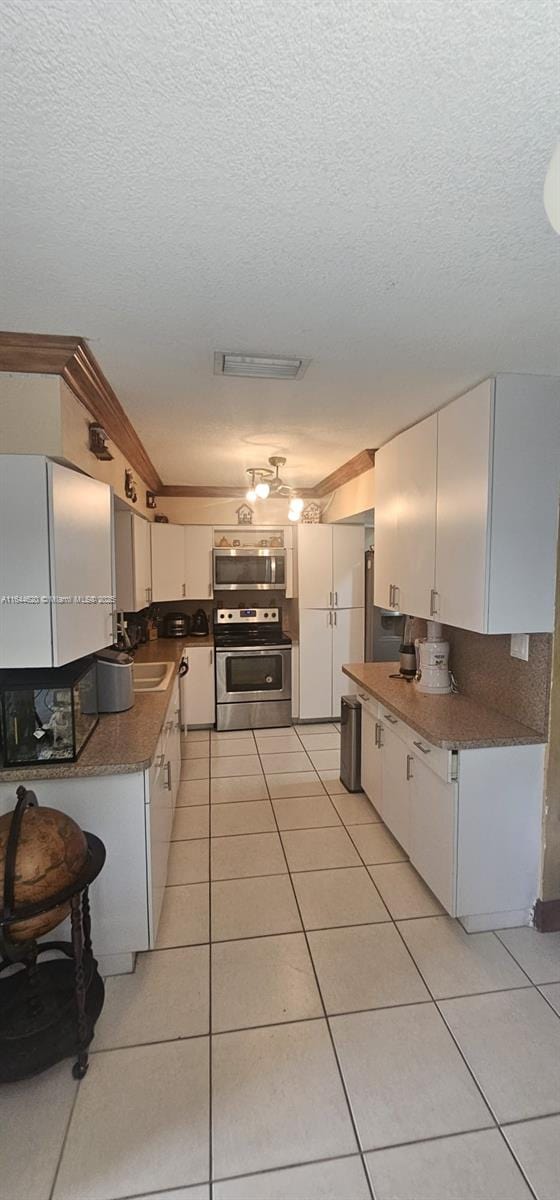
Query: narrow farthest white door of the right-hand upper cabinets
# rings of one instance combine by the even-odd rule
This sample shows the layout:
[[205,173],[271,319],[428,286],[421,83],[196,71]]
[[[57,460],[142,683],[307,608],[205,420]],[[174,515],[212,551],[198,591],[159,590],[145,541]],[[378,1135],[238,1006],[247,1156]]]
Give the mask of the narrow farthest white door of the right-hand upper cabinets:
[[375,576],[374,602],[380,608],[391,607],[391,584],[398,574],[398,504],[399,456],[398,438],[387,442],[375,452]]

